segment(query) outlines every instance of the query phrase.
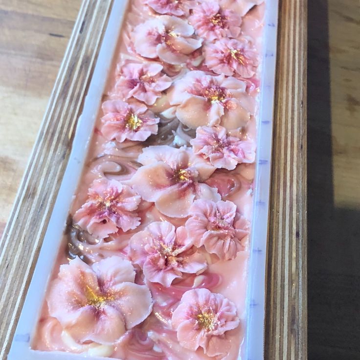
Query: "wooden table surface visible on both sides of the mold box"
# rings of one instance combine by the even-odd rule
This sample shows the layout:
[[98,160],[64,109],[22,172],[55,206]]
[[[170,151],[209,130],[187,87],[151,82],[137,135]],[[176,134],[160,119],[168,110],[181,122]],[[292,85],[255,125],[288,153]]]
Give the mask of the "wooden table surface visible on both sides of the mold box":
[[[80,3],[0,0],[0,234]],[[359,14],[355,0],[309,1],[309,359],[316,360],[360,359]]]

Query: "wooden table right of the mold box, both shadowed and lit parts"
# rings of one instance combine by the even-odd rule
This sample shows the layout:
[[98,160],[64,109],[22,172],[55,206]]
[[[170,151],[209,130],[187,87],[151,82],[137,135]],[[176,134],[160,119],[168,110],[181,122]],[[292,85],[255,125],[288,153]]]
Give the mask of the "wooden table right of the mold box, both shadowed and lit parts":
[[360,8],[308,2],[309,359],[360,359]]

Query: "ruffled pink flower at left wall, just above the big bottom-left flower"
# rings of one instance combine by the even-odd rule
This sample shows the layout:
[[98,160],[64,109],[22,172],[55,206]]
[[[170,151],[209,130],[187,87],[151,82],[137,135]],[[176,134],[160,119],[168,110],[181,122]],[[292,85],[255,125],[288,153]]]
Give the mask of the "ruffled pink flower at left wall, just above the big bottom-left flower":
[[90,234],[105,238],[119,228],[128,231],[140,225],[135,210],[141,198],[130,186],[103,178],[92,183],[88,195],[74,220]]

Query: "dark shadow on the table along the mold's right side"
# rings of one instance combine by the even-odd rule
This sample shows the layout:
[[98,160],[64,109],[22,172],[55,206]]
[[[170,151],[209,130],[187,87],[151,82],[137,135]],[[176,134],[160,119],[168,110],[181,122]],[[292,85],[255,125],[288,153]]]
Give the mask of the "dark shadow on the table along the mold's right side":
[[308,1],[309,360],[360,359],[360,211],[335,208],[327,1]]

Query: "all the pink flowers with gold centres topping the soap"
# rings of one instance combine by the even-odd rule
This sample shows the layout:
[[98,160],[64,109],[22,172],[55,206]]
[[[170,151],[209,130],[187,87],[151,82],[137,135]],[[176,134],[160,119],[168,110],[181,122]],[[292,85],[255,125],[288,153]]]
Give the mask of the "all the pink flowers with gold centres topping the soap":
[[[217,2],[143,2],[156,15],[136,25],[131,39],[147,62],[125,61],[118,67],[112,99],[102,106],[101,134],[118,143],[156,135],[165,115],[153,110],[165,98],[166,113],[196,129],[196,137],[191,147],[143,148],[137,158],[142,166],[126,183],[94,180],[73,219],[104,239],[136,229],[139,206],[149,202],[167,219],[184,219],[184,225],[176,228],[164,220],[142,227],[132,235],[126,258],[112,256],[92,265],[76,258],[61,266],[47,296],[49,314],[79,342],[116,343],[151,314],[148,284],[171,287],[187,274],[202,273],[205,253],[234,259],[248,234],[248,221],[235,203],[222,201],[218,189],[205,181],[216,169],[254,161],[253,142],[236,132],[254,111],[251,81],[244,81],[258,66],[253,41],[241,34],[241,16]],[[201,63],[194,69],[197,58]],[[186,73],[174,80],[164,65]],[[135,269],[141,269],[143,280],[135,281]],[[201,347],[210,357],[224,355],[225,332],[238,325],[236,306],[207,289],[185,292],[171,316],[180,345],[193,351]]]

